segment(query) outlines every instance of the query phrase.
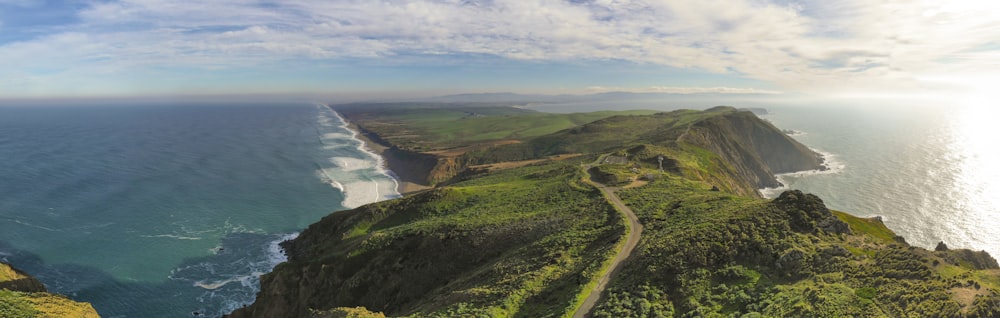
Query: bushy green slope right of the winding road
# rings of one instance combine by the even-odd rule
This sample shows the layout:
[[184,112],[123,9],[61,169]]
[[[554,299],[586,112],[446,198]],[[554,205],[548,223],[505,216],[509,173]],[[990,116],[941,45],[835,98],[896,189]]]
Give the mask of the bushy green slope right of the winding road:
[[[783,205],[664,177],[621,197],[648,234],[598,317],[1000,313],[998,290],[990,290],[995,270],[945,264],[896,243],[881,222],[822,212],[822,201],[809,195]],[[803,219],[799,210],[813,216]],[[831,215],[853,234],[817,229]],[[961,291],[980,296],[953,296]]]

